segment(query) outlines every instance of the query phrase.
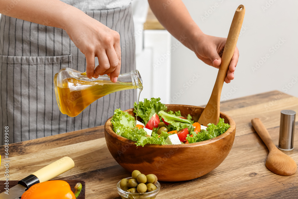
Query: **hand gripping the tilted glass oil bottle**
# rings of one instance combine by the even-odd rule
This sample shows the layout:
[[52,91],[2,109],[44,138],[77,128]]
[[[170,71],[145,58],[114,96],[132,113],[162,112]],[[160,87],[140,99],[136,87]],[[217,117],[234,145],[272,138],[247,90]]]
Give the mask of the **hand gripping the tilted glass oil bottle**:
[[[80,10],[65,26],[66,33],[86,57],[88,78],[110,73],[112,82],[117,81],[121,67],[120,36],[114,30],[89,17]],[[99,65],[95,68],[94,58]]]

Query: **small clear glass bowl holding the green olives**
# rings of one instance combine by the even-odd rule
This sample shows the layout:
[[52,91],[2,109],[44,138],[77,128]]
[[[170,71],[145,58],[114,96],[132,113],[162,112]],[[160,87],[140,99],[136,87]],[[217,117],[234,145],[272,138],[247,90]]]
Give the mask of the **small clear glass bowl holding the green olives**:
[[[126,179],[131,179],[131,178],[132,177],[126,178]],[[155,189],[154,191],[145,192],[145,193],[126,192],[120,188],[120,181],[117,183],[117,192],[119,193],[119,195],[121,196],[122,199],[154,199],[160,190],[160,184],[157,181],[154,184],[157,187],[157,189]]]

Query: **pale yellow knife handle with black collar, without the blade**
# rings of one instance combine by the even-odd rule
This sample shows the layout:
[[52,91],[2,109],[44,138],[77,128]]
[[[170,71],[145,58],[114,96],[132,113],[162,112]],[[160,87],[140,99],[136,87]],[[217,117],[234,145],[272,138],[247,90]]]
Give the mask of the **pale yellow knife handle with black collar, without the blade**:
[[56,176],[68,171],[69,169],[74,168],[74,166],[75,163],[72,160],[72,158],[65,156],[49,164],[48,166],[39,169],[38,171],[27,176],[26,178],[23,178],[18,182],[18,184],[21,184],[27,187],[28,189],[30,188],[30,186],[36,183],[45,182],[52,178],[55,178]]

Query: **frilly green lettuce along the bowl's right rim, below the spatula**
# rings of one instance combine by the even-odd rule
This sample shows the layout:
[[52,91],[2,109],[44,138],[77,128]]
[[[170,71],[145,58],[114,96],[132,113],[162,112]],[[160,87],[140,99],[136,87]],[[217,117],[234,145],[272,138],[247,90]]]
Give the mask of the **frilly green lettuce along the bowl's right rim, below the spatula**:
[[208,127],[206,130],[202,129],[201,132],[199,132],[198,134],[195,132],[190,132],[190,135],[192,134],[193,137],[187,135],[186,139],[188,140],[188,142],[195,143],[215,138],[218,135],[221,135],[224,132],[226,132],[226,130],[228,130],[228,128],[230,127],[229,124],[224,123],[223,118],[219,118],[219,122],[217,125],[209,123],[207,126]]

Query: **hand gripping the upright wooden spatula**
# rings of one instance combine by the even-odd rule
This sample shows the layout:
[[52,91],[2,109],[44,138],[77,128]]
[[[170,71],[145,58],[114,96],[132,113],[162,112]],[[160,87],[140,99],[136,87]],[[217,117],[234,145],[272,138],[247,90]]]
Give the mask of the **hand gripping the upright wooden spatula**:
[[[221,65],[223,49],[226,44],[226,38],[209,36],[202,33],[197,36],[196,41],[196,45],[193,48],[197,57],[206,64],[215,68],[219,68]],[[234,72],[237,66],[238,58],[239,51],[236,47],[225,78],[226,83],[230,83],[231,80],[234,79]]]

